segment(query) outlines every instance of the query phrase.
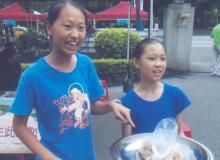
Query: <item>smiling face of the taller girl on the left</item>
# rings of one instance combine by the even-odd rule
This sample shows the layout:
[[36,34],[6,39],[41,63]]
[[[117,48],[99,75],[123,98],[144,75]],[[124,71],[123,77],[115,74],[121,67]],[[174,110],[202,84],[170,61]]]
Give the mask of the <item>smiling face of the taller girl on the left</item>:
[[48,25],[47,30],[53,40],[53,51],[72,55],[80,49],[85,39],[85,16],[74,6],[66,5],[61,9],[54,24]]

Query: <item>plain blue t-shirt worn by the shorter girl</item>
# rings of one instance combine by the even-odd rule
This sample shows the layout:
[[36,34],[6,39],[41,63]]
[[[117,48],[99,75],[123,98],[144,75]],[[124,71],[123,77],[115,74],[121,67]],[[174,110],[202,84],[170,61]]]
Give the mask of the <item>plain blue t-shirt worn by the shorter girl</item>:
[[160,120],[176,118],[176,115],[191,104],[181,89],[169,84],[164,84],[161,97],[155,101],[142,99],[134,90],[123,96],[121,101],[131,110],[131,119],[135,124],[132,134],[153,132]]

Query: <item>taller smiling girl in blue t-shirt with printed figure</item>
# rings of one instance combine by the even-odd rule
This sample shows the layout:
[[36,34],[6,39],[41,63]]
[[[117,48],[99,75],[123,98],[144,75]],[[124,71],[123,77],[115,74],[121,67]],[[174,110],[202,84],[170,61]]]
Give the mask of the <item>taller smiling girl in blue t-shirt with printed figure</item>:
[[[130,111],[118,103],[99,101],[104,89],[94,64],[78,52],[86,36],[84,9],[71,0],[55,1],[47,23],[52,49],[22,74],[10,109],[13,129],[36,159],[95,160],[91,113],[114,111],[122,123],[133,125]],[[27,128],[33,109],[40,141]]]

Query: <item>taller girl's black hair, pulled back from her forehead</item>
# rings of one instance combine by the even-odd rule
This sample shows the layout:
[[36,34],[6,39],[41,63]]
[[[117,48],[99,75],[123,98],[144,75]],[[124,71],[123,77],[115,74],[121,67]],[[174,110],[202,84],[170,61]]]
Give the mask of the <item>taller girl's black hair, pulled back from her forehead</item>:
[[86,16],[86,12],[85,9],[80,6],[78,3],[71,1],[71,0],[57,0],[55,2],[52,3],[52,5],[49,8],[48,11],[48,15],[47,15],[47,22],[49,25],[53,25],[54,22],[57,20],[57,18],[59,17],[60,11],[63,7],[65,7],[66,5],[71,5],[75,8],[78,8],[85,16],[85,22],[87,25],[87,16]]

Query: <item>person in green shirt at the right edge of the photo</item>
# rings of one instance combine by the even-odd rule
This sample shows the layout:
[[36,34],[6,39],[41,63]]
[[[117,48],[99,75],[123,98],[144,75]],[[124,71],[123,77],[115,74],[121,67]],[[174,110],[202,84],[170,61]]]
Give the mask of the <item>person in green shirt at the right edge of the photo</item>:
[[212,76],[220,76],[220,24],[217,24],[211,33],[211,37],[213,39],[213,62],[211,68]]

